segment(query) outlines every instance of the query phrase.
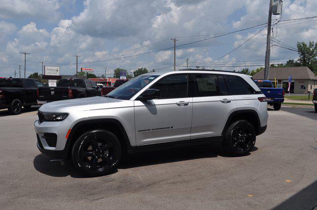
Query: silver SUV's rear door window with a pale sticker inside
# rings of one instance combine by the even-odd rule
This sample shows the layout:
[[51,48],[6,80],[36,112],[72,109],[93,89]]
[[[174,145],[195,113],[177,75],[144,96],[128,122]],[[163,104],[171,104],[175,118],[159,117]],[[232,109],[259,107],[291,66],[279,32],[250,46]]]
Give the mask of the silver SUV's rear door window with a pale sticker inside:
[[219,95],[217,76],[211,74],[195,75],[196,96],[215,96]]

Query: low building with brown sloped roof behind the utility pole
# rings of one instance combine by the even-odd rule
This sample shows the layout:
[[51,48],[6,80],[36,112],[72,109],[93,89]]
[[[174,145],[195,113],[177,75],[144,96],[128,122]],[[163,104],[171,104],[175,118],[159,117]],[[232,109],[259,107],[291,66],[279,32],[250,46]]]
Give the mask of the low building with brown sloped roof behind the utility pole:
[[[308,93],[317,88],[317,76],[306,66],[269,68],[268,79],[274,83],[274,78],[276,78],[277,87],[282,87],[287,92],[290,75],[292,76],[290,93]],[[263,78],[264,70],[253,76],[254,80],[263,80]]]

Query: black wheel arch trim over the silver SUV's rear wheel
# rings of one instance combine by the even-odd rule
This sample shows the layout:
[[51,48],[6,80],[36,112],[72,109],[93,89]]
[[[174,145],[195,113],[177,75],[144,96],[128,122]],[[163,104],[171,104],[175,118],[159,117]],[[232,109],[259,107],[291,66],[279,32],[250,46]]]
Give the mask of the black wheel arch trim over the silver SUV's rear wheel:
[[238,120],[246,120],[248,122],[250,122],[254,128],[256,129],[256,133],[257,135],[260,135],[261,133],[261,130],[260,130],[260,127],[261,127],[261,123],[260,123],[260,118],[259,118],[259,115],[258,113],[255,111],[255,110],[237,110],[237,111],[234,111],[232,112],[228,119],[227,119],[227,122],[222,130],[222,135],[225,134],[226,130],[228,129],[228,127],[238,121]]

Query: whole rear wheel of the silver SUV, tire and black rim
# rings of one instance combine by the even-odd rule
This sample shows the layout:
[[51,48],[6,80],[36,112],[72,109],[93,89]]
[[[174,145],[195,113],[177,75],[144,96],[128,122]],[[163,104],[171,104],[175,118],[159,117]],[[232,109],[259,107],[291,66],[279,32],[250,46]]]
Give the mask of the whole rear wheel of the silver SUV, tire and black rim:
[[239,120],[226,130],[222,146],[230,155],[243,156],[253,149],[256,138],[254,126],[246,120]]

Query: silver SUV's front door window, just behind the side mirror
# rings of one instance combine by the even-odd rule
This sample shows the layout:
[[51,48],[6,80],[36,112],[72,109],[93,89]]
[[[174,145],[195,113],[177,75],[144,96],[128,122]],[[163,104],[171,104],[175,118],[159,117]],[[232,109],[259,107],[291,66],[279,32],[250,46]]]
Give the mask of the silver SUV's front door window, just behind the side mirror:
[[185,98],[187,97],[187,74],[167,76],[150,88],[159,89],[161,99]]

